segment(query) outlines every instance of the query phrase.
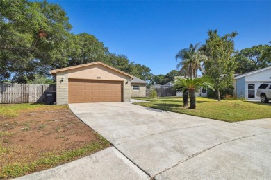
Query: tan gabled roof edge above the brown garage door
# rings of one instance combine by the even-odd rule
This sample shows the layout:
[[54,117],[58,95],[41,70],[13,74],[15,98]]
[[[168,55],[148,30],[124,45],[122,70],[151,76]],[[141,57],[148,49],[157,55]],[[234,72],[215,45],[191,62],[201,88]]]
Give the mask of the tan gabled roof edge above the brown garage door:
[[61,69],[54,69],[51,71],[51,74],[52,75],[56,75],[56,73],[59,73],[61,71],[68,71],[68,70],[72,70],[72,69],[79,69],[79,68],[83,68],[83,67],[86,67],[86,66],[93,66],[93,65],[96,65],[96,64],[99,64],[101,66],[106,66],[107,68],[109,69],[112,69],[113,71],[117,71],[118,73],[122,73],[130,78],[133,78],[133,75],[130,75],[129,73],[125,73],[123,71],[120,71],[119,69],[115,69],[113,68],[112,66],[108,66],[107,64],[104,64],[102,62],[92,62],[92,63],[88,63],[88,64],[80,64],[80,65],[77,65],[77,66],[69,66],[69,67],[66,67],[66,68],[61,68]]

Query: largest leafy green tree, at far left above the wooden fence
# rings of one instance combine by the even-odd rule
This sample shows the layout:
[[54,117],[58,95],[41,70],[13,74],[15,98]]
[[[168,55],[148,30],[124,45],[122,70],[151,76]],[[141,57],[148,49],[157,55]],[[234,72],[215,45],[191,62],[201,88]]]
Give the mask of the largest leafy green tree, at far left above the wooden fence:
[[58,5],[26,0],[0,2],[0,80],[25,82],[67,60],[69,18]]

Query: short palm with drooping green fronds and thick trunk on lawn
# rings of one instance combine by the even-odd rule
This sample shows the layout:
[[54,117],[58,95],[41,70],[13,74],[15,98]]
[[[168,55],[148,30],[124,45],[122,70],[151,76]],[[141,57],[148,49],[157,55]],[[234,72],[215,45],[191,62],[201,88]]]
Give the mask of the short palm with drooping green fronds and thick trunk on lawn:
[[213,84],[206,77],[202,78],[177,78],[175,87],[182,87],[183,89],[188,89],[189,91],[189,100],[190,100],[190,109],[196,108],[196,96],[195,92],[199,91],[200,87],[213,89]]

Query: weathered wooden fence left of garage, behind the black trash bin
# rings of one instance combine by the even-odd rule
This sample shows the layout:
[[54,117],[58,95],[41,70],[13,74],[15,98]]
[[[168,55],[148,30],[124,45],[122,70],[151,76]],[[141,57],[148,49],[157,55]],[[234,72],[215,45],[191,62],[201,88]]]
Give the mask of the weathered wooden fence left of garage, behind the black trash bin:
[[0,103],[44,102],[49,91],[56,91],[56,85],[0,83]]

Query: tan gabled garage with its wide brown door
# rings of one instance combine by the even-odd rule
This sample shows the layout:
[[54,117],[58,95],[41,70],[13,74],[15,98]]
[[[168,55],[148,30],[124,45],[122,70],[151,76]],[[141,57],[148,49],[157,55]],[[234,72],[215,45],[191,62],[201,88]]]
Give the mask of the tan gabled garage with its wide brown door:
[[107,64],[92,62],[55,69],[56,104],[81,102],[130,102],[133,75]]

